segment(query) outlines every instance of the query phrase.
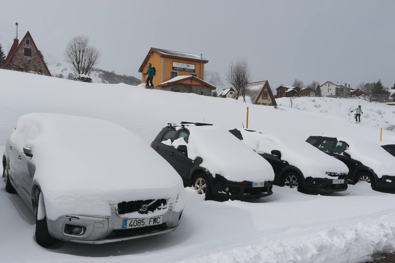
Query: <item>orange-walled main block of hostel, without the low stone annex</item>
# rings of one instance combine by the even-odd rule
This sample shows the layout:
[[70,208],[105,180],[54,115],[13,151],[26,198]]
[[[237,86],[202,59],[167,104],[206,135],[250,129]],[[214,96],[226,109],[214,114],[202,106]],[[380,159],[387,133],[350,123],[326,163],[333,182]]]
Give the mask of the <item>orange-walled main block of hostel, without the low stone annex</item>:
[[148,75],[148,63],[156,70],[156,75],[152,80],[154,86],[170,80],[176,76],[195,76],[204,80],[204,65],[208,63],[202,55],[177,52],[160,48],[151,48],[145,57],[145,60],[139,68],[141,73],[141,83],[145,83]]

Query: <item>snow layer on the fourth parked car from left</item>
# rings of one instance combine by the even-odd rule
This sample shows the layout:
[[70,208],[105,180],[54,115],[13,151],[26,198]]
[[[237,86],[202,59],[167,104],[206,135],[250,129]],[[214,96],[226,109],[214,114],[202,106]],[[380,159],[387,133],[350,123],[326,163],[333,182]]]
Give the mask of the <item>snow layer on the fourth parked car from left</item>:
[[348,153],[352,159],[371,168],[373,172],[376,173],[377,177],[381,178],[383,175],[395,176],[395,166],[393,165],[394,157],[379,144],[363,140],[360,136],[348,138],[325,135],[325,137],[337,138],[338,141],[346,142],[349,145],[349,149],[345,152]]

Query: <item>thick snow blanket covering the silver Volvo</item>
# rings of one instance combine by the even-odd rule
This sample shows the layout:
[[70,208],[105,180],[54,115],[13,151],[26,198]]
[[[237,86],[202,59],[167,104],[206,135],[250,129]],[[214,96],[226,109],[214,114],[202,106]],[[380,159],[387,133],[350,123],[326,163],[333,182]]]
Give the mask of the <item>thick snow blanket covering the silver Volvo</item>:
[[177,172],[140,137],[114,123],[33,113],[19,118],[10,140],[19,149],[32,148],[34,180],[51,220],[110,216],[111,206],[122,201],[165,198],[174,211],[185,206]]

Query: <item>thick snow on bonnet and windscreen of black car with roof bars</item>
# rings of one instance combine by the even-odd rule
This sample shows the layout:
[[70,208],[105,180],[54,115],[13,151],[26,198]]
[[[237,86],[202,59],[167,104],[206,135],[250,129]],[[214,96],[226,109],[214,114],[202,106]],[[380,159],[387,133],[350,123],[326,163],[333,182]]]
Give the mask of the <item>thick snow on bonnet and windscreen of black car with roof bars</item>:
[[186,144],[188,157],[192,160],[201,157],[203,162],[200,166],[208,169],[214,177],[219,174],[234,182],[274,180],[269,162],[226,129],[194,125],[186,128],[190,131]]

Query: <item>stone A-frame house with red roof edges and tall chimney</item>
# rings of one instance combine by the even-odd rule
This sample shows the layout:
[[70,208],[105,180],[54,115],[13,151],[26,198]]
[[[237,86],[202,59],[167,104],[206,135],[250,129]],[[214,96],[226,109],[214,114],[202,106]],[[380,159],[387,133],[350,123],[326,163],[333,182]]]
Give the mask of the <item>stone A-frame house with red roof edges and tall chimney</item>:
[[51,76],[29,31],[24,35],[21,42],[19,42],[16,34],[13,45],[4,61],[3,68],[25,72],[34,71]]

